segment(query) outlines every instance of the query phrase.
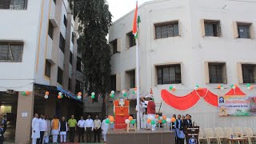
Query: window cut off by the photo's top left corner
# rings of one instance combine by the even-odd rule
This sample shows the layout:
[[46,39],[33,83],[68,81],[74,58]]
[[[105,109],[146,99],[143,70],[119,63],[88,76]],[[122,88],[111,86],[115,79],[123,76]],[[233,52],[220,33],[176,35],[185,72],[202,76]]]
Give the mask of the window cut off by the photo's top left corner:
[[26,10],[27,0],[0,0],[0,9]]

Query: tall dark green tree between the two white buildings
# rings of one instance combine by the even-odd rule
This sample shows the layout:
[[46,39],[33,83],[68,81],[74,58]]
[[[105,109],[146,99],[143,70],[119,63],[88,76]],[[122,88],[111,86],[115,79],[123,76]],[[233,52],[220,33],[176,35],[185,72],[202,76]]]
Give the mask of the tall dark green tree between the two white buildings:
[[112,15],[106,0],[74,0],[74,18],[82,24],[78,50],[82,51],[86,91],[105,94],[110,82],[110,46],[106,35]]

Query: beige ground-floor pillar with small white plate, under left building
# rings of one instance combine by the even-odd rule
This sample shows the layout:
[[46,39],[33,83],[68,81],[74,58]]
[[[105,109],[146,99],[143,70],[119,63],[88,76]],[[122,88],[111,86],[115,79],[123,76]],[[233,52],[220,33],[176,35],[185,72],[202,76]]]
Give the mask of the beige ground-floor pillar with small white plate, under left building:
[[23,96],[18,92],[17,122],[15,131],[15,143],[28,144],[31,139],[31,122],[34,113],[34,92]]

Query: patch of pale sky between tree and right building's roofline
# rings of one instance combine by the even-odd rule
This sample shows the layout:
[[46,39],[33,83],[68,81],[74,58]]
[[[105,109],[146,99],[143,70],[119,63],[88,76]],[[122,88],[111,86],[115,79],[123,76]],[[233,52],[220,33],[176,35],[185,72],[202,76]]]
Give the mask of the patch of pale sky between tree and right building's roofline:
[[[134,10],[136,7],[136,0],[106,0],[110,6],[110,12],[113,15],[112,22],[118,20],[123,15]],[[151,0],[138,0],[138,6],[144,2]]]

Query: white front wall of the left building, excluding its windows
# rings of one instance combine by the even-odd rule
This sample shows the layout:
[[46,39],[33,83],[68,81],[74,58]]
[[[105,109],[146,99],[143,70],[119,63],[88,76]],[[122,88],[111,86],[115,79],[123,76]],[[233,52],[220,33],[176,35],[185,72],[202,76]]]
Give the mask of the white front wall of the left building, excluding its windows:
[[22,62],[0,62],[0,91],[32,90],[41,1],[28,2],[27,10],[0,10],[0,40],[24,42]]

